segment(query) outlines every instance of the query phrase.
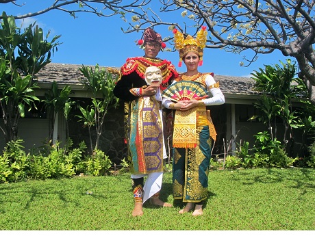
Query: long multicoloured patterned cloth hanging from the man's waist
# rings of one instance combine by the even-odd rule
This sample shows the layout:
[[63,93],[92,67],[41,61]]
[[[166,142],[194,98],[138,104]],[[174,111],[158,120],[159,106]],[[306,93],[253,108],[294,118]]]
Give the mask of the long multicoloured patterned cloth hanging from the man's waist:
[[128,138],[131,174],[163,172],[166,152],[159,103],[154,96],[141,96],[131,102]]

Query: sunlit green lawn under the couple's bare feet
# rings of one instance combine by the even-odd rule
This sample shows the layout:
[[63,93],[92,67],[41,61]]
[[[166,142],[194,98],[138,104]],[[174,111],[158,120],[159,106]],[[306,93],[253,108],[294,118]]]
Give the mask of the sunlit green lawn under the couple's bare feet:
[[[161,197],[173,202],[172,174]],[[315,230],[315,170],[216,170],[203,215],[144,203],[132,217],[130,174],[0,185],[0,230]],[[91,195],[86,192],[92,191]]]

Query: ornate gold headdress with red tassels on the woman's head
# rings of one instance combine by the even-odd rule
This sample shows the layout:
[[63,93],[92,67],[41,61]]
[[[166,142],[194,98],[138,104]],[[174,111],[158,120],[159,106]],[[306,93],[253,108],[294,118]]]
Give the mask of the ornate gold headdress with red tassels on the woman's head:
[[207,42],[207,31],[205,26],[201,26],[201,29],[197,32],[196,39],[188,35],[184,38],[177,29],[173,29],[175,49],[179,51],[179,64],[181,67],[181,61],[183,57],[190,51],[197,53],[199,55],[199,66],[203,64],[203,49],[205,48],[205,42]]

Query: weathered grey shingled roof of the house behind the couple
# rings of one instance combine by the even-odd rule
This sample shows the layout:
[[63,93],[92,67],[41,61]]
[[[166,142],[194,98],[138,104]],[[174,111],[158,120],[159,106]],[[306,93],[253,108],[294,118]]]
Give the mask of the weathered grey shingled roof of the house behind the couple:
[[[69,86],[82,85],[81,79],[84,79],[84,75],[79,70],[81,67],[82,65],[77,64],[50,63],[40,70],[36,76],[39,83],[52,83],[56,81],[59,84],[68,84]],[[94,68],[95,66],[91,67]],[[119,70],[119,68],[112,69]],[[214,74],[214,79],[220,82],[220,89],[224,94],[259,94],[253,90],[255,81],[251,78]]]

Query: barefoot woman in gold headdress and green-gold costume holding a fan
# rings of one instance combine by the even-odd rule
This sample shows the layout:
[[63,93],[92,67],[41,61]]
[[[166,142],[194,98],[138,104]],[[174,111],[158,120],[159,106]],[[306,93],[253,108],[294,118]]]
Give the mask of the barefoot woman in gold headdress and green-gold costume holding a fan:
[[205,27],[196,39],[190,35],[184,38],[177,29],[173,33],[179,67],[184,61],[187,68],[162,95],[163,105],[175,110],[173,196],[186,203],[179,213],[193,210],[192,215],[197,216],[203,214],[203,200],[207,199],[212,140],[216,140],[209,107],[225,103],[225,96],[213,73],[198,71],[207,40]]

